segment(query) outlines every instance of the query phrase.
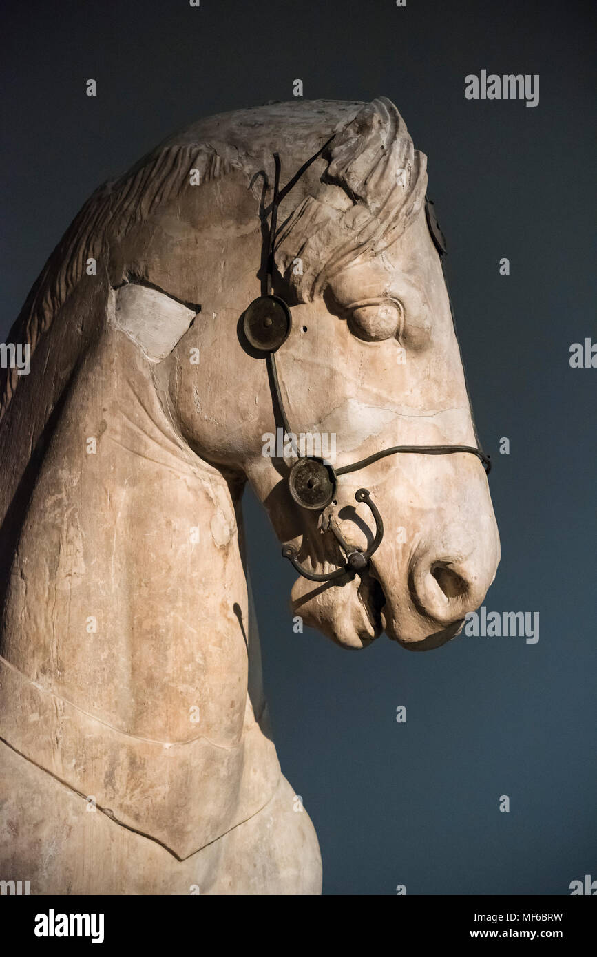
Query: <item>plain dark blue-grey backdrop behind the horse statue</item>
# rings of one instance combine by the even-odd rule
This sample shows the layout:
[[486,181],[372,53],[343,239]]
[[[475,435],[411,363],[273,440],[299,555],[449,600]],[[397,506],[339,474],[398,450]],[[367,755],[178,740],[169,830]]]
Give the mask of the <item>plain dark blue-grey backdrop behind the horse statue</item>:
[[[502,560],[486,606],[524,638],[410,654],[294,634],[294,580],[246,520],[282,768],[318,831],[324,893],[567,894],[597,878],[594,18],[522,0],[28,0],[2,17],[0,337],[93,189],[187,122],[266,100],[387,96],[429,156]],[[539,106],[464,78],[540,74]],[[98,97],[85,80],[98,80]],[[510,259],[511,275],[498,274]],[[511,441],[498,455],[500,436]],[[395,721],[405,704],[408,722]],[[509,813],[498,811],[508,794]]]

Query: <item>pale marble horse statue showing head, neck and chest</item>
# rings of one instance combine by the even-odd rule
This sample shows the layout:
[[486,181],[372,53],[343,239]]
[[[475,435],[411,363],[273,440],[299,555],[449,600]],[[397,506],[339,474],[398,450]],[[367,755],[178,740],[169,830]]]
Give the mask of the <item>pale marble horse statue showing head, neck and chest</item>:
[[[426,187],[389,100],[268,104],[100,187],[48,260],[11,331],[31,372],[7,368],[0,392],[0,878],[321,892],[268,724],[242,493],[307,573],[357,554],[292,591],[344,647],[438,647],[482,602],[498,531],[484,456],[453,449],[477,441]],[[280,402],[243,315],[268,292],[292,315],[289,428],[335,436],[319,509],[291,494],[292,442],[264,446]],[[398,445],[453,454],[342,474]],[[362,486],[384,523],[369,558]]]

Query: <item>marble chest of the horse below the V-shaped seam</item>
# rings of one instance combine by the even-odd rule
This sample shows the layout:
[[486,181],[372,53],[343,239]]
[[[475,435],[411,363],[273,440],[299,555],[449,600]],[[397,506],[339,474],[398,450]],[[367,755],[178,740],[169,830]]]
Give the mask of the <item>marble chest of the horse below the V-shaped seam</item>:
[[317,836],[308,814],[294,812],[281,775],[260,811],[182,861],[108,815],[85,812],[75,791],[1,743],[0,787],[9,795],[3,837],[11,837],[3,873],[27,874],[32,894],[321,892]]

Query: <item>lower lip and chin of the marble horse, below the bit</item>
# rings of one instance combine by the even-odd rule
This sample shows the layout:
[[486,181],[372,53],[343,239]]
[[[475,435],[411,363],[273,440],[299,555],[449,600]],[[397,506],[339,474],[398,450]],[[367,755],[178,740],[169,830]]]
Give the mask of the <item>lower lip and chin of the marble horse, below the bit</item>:
[[295,614],[342,648],[366,648],[383,632],[386,599],[368,574],[343,585],[323,585],[299,578],[292,590]]

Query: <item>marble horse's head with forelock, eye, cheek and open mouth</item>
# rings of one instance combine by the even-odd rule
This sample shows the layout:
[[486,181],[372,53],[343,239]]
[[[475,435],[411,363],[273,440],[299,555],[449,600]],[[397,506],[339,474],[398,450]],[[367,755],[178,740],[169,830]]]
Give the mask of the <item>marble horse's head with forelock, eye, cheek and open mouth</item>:
[[[382,631],[405,647],[436,647],[481,604],[499,545],[426,158],[388,100],[234,116],[230,140],[214,147],[232,167],[208,228],[191,219],[191,250],[167,257],[185,277],[179,300],[202,303],[165,362],[177,421],[200,456],[252,483],[302,569],[293,605],[308,624],[348,647]],[[283,188],[274,153],[288,171]],[[271,329],[265,345],[251,333],[263,317],[250,303],[267,306],[259,293],[268,291],[281,300],[274,362]],[[404,454],[375,457],[392,448]],[[317,485],[322,475],[326,485],[322,463],[331,484],[302,507],[293,465],[305,455],[320,471],[303,479]],[[367,501],[383,519],[381,541]]]

